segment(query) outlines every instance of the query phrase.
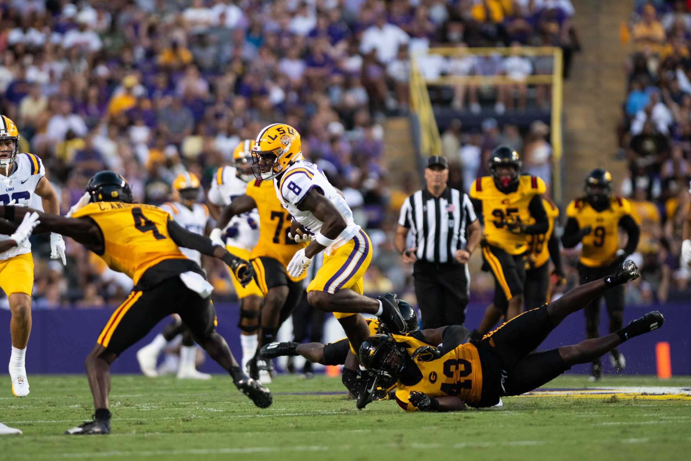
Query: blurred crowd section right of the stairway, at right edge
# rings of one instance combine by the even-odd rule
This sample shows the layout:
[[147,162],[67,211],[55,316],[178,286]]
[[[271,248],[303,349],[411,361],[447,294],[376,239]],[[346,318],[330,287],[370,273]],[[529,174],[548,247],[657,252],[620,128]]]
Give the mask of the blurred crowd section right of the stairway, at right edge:
[[[618,127],[620,158],[628,162],[619,194],[629,198],[641,226],[638,244],[641,303],[684,299],[689,273],[679,267],[681,227],[691,180],[691,9],[687,1],[636,1],[623,38],[627,95]],[[642,263],[642,264],[640,264]]]

